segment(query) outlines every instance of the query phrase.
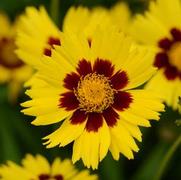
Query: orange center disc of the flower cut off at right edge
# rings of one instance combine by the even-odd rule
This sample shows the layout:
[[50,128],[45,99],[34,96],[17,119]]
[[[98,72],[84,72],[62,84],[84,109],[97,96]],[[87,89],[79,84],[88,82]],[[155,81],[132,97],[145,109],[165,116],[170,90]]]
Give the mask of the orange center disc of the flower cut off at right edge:
[[168,52],[170,63],[181,71],[181,42],[175,43]]

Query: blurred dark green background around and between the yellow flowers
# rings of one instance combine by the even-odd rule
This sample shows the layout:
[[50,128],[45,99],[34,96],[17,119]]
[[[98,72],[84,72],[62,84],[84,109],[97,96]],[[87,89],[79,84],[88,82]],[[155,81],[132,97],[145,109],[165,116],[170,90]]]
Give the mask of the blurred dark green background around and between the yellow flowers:
[[[60,0],[59,27],[64,15],[72,5],[93,7],[97,5],[110,8],[117,0]],[[133,14],[142,12],[147,8],[148,0],[127,0]],[[26,6],[44,5],[50,12],[51,0],[0,0],[0,11],[8,14],[13,21],[17,15],[24,11]],[[1,27],[0,27],[1,30]],[[1,74],[0,74],[1,76]],[[56,126],[35,127],[30,124],[33,118],[20,113],[20,103],[27,100],[24,89],[16,102],[8,101],[8,85],[0,84],[0,163],[12,160],[20,163],[27,153],[45,155],[51,162],[55,157],[70,158],[72,145],[65,148],[46,149],[41,138],[52,132]],[[152,180],[155,172],[161,165],[176,137],[181,133],[181,127],[175,121],[181,119],[178,112],[166,107],[159,122],[152,121],[152,128],[142,129],[143,142],[138,143],[140,152],[135,154],[134,160],[127,160],[121,156],[114,161],[110,154],[100,163],[99,174],[101,180]],[[81,169],[82,162],[76,163]],[[181,179],[181,147],[174,152],[167,164],[163,176],[164,180]]]

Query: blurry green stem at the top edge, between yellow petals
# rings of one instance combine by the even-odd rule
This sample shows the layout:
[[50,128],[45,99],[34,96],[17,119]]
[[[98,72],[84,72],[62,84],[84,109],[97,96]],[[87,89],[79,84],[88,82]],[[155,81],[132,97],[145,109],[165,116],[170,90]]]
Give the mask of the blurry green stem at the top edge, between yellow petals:
[[60,0],[51,0],[50,15],[56,24],[58,24],[59,19],[59,7]]

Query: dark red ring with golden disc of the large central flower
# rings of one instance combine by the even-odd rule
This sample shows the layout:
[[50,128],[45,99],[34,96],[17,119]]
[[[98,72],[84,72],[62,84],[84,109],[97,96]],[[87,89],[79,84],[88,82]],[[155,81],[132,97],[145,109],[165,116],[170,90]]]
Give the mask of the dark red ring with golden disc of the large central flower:
[[59,107],[73,111],[72,124],[86,122],[87,131],[98,131],[103,119],[109,127],[116,125],[119,111],[129,108],[133,99],[130,93],[122,91],[129,82],[125,71],[115,71],[109,60],[97,58],[79,61],[76,72],[64,78],[67,92],[60,95]]

